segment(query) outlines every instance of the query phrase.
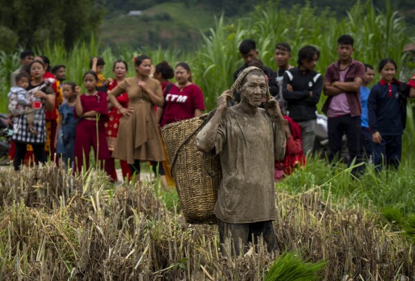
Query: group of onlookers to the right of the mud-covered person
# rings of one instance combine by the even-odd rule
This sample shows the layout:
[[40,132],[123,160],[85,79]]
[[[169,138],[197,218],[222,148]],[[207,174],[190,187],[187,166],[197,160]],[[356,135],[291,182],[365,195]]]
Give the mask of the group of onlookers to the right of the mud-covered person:
[[[267,75],[270,92],[279,101],[286,120],[286,152],[283,161],[275,163],[275,179],[290,174],[303,165],[304,155],[313,151],[317,127],[317,104],[321,92],[327,96],[321,111],[327,116],[328,160],[338,160],[346,135],[349,161],[373,163],[398,168],[402,154],[402,134],[406,122],[407,98],[415,97],[415,75],[408,83],[396,79],[398,66],[391,58],[378,63],[380,81],[369,89],[375,71],[370,64],[353,60],[354,39],[342,35],[337,39],[338,60],[330,64],[324,77],[314,69],[320,53],[314,46],[303,46],[297,56],[297,67],[291,66],[290,45],[276,44],[274,58],[278,69],[272,71],[258,60],[256,44],[241,42],[239,51],[245,64],[257,66]],[[236,102],[240,96],[235,93]],[[362,170],[354,165],[352,172]]]

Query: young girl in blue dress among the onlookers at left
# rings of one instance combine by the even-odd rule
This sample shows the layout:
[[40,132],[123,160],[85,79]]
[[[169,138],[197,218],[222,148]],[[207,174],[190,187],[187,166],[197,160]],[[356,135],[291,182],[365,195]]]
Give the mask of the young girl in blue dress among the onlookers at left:
[[[67,102],[60,105],[58,109],[59,123],[55,136],[55,143],[58,143],[56,152],[62,154],[62,161],[64,165],[69,165],[68,167],[73,167],[73,144],[75,143],[76,126],[79,121],[79,119],[74,118],[73,113],[76,100],[75,87],[76,84],[73,82],[64,84],[63,96]],[[60,129],[62,130],[62,143],[58,138]]]

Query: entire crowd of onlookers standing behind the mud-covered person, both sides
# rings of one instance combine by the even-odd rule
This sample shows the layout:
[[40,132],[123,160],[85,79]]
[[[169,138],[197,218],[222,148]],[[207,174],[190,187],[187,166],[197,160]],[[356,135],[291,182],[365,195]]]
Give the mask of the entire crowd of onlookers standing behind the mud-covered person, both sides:
[[[380,81],[369,89],[374,68],[353,60],[353,44],[350,35],[339,37],[339,59],[323,76],[314,70],[320,57],[314,46],[303,46],[297,66],[292,66],[290,45],[276,44],[278,69],[272,71],[258,59],[253,40],[240,43],[245,64],[233,73],[234,80],[248,66],[262,69],[284,114],[286,154],[275,163],[276,180],[303,165],[305,155],[312,153],[321,92],[327,96],[321,111],[328,117],[330,161],[339,158],[346,135],[348,165],[367,161],[378,168],[398,167],[406,102],[415,97],[415,76],[408,83],[397,80],[396,63],[385,58],[378,63]],[[81,93],[79,85],[66,82],[64,65],[51,68],[46,56],[21,53],[21,67],[10,75],[8,93],[13,128],[9,154],[15,170],[33,155],[40,163],[50,156],[51,161],[77,173],[89,167],[92,147],[98,167],[113,181],[118,180],[115,159],[120,161],[124,179],[139,175],[140,163],[145,161],[161,175],[167,188],[172,181],[160,127],[200,116],[205,109],[190,66],[186,62],[179,62],[174,69],[168,62],[153,66],[150,57],[139,55],[134,58],[136,75],[131,78],[127,78],[128,66],[123,60],[112,65],[112,78],[104,77],[104,66],[101,57],[91,58],[90,71],[82,81],[86,91]],[[173,77],[174,83],[170,82]],[[237,92],[233,96],[229,106],[240,102]]]

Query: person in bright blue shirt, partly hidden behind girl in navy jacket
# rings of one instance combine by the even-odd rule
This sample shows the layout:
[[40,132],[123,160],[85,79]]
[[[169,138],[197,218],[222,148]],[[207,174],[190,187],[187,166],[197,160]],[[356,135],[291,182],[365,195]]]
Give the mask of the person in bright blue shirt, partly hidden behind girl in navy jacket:
[[362,115],[360,115],[360,153],[371,163],[372,154],[372,134],[369,131],[369,120],[367,117],[367,100],[369,99],[370,89],[367,87],[375,78],[375,70],[370,64],[364,64],[364,77],[360,86],[360,102],[362,103]]

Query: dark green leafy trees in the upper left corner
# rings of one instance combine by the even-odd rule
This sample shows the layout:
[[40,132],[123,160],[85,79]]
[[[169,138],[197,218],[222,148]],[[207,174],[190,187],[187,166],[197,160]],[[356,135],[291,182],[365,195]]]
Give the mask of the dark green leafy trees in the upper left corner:
[[73,42],[96,33],[104,14],[96,0],[0,0],[0,50]]

